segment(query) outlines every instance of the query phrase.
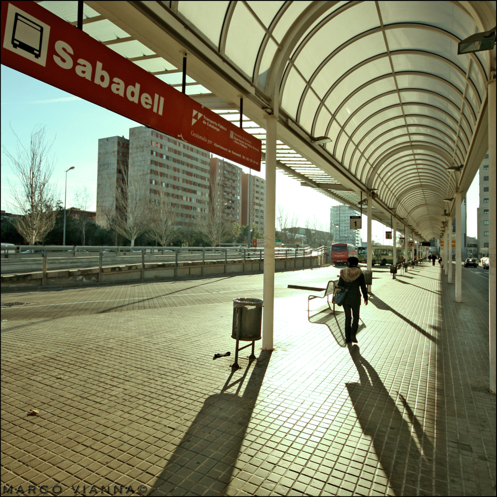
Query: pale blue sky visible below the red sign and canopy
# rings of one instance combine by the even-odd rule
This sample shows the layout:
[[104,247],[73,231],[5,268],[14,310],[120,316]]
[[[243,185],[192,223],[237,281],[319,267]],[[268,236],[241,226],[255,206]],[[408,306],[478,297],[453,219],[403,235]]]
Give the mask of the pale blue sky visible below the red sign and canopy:
[[[96,176],[98,139],[107,136],[125,136],[129,128],[140,126],[139,123],[115,114],[107,109],[89,103],[66,93],[54,86],[42,83],[5,66],[1,66],[1,143],[9,151],[15,150],[15,137],[9,128],[19,136],[24,144],[29,143],[33,128],[41,124],[46,126],[47,138],[55,142],[52,152],[56,157],[53,180],[61,188],[64,198],[64,171],[71,166],[75,169],[68,173],[67,195],[68,207],[73,200],[73,192],[87,184],[93,192],[93,205],[96,203]],[[244,168],[248,172],[247,168]],[[264,176],[264,166],[260,173]],[[12,183],[8,162],[1,154],[1,208],[9,212],[9,186]],[[478,174],[468,191],[468,236],[476,236],[476,208],[479,203]],[[306,218],[316,216],[320,229],[328,230],[330,226],[330,206],[337,203],[319,194],[311,188],[301,187],[300,183],[277,171],[276,203],[283,205],[290,213],[296,214],[299,225],[304,226]],[[363,226],[366,220],[363,219]],[[384,228],[373,221],[373,237],[383,240]],[[361,238],[366,238],[366,230],[361,230]]]

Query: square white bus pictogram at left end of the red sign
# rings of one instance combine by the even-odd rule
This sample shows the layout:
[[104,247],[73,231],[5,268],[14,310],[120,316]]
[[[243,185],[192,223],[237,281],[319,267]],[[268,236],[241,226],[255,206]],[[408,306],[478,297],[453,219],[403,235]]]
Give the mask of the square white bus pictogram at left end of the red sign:
[[9,3],[3,48],[45,67],[50,26]]

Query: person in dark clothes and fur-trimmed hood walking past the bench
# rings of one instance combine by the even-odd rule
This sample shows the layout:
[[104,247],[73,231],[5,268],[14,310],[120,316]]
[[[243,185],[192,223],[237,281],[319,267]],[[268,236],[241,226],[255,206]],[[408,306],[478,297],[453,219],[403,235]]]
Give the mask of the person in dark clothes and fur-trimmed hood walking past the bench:
[[[343,310],[345,311],[345,343],[357,343],[355,334],[359,328],[359,308],[361,306],[361,293],[364,297],[364,305],[368,305],[368,290],[364,274],[358,266],[357,257],[347,259],[348,267],[340,270],[340,279],[338,286],[344,287],[347,292],[343,301]],[[352,320],[353,317],[353,320]]]

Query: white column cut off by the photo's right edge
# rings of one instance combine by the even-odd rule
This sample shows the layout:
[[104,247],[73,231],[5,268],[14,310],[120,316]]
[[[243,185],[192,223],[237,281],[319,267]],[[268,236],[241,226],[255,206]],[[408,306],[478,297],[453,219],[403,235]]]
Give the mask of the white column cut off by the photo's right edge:
[[490,346],[490,391],[496,393],[496,80],[489,81],[489,346]]

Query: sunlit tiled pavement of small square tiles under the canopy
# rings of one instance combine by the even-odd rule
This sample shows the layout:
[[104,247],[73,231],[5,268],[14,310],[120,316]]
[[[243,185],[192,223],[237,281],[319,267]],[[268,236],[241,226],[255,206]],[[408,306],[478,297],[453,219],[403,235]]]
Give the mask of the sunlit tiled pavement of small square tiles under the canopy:
[[495,495],[488,279],[375,271],[349,349],[286,288],[336,274],[277,273],[275,349],[234,374],[262,275],[2,295],[2,494]]

